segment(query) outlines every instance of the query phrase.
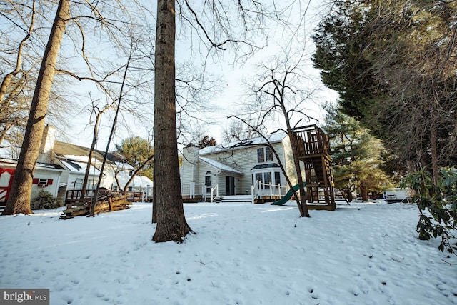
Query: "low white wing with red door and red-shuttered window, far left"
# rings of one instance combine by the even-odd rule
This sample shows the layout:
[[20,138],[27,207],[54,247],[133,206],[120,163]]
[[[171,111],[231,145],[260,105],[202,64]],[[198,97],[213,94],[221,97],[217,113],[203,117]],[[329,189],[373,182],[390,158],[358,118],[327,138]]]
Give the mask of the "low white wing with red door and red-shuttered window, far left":
[[[0,211],[3,211],[6,201],[8,200],[16,165],[16,160],[0,159]],[[34,199],[41,189],[49,191],[52,196],[56,197],[59,192],[61,176],[64,171],[65,169],[59,164],[37,162],[31,186],[31,198]]]

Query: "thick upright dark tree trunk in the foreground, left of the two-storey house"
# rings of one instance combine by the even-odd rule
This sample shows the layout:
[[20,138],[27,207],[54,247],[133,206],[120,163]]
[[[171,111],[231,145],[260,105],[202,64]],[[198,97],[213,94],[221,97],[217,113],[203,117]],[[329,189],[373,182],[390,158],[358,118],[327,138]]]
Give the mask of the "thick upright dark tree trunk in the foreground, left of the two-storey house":
[[179,179],[175,101],[175,3],[157,0],[154,84],[154,186],[156,232],[153,241],[181,242],[191,228],[184,216]]

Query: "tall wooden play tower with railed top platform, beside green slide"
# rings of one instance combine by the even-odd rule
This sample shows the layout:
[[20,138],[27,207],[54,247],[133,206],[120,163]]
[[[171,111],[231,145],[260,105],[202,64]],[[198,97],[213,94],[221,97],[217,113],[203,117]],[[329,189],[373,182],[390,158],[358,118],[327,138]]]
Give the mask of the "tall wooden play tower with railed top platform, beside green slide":
[[293,129],[293,134],[298,159],[305,165],[308,208],[333,211],[336,209],[335,182],[328,137],[316,125]]

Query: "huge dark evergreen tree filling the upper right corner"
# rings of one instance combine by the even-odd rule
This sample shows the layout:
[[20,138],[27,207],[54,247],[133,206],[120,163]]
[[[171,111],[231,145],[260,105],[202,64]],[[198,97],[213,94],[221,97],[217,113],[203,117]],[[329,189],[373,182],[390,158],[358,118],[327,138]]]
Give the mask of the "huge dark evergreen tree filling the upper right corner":
[[435,179],[457,164],[455,16],[456,1],[337,0],[313,36],[341,110]]

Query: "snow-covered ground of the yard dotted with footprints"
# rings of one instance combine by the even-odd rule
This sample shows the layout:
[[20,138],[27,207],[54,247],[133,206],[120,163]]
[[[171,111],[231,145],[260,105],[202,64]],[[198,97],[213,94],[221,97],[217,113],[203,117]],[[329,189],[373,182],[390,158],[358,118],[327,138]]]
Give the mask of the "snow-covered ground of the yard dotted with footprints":
[[196,235],[151,241],[151,204],[59,220],[0,217],[0,288],[51,304],[457,304],[457,256],[416,238],[406,204],[185,204]]

